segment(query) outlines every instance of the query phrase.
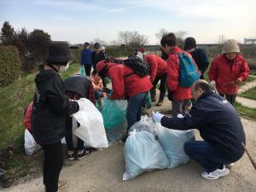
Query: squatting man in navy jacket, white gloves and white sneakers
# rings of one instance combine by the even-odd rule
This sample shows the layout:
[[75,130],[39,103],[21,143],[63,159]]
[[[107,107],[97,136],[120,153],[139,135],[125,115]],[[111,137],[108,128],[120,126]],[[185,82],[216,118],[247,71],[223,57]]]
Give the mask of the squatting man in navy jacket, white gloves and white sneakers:
[[230,102],[214,93],[207,81],[196,81],[191,94],[196,102],[183,118],[168,118],[153,112],[153,119],[173,130],[198,129],[204,141],[184,143],[185,153],[205,168],[201,177],[209,180],[224,177],[230,173],[224,165],[241,159],[244,153],[241,143],[246,142],[246,137],[241,119]]

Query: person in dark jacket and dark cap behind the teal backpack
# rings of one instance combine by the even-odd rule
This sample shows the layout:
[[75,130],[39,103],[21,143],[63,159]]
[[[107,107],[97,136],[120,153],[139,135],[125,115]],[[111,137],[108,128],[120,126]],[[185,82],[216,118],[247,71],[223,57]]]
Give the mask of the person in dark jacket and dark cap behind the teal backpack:
[[200,79],[204,79],[204,73],[207,71],[209,66],[209,60],[206,52],[203,49],[196,47],[195,38],[186,38],[183,49],[192,55],[198,69],[201,71]]

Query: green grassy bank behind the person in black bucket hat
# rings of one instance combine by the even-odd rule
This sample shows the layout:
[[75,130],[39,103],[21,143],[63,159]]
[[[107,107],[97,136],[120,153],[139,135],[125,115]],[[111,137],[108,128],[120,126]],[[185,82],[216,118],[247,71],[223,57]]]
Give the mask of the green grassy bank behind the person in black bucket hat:
[[[67,72],[61,73],[61,78],[66,79],[78,70],[78,64],[71,65]],[[23,151],[23,115],[27,105],[32,102],[35,76],[36,73],[32,73],[0,88],[0,150],[14,144],[15,152]]]

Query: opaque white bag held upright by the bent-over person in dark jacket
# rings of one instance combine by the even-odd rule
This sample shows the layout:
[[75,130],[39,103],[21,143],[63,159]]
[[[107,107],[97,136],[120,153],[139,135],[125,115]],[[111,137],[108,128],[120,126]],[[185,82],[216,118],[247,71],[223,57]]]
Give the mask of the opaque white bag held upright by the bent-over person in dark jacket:
[[88,99],[82,98],[79,102],[84,109],[73,113],[73,134],[82,139],[86,147],[108,148],[102,113]]

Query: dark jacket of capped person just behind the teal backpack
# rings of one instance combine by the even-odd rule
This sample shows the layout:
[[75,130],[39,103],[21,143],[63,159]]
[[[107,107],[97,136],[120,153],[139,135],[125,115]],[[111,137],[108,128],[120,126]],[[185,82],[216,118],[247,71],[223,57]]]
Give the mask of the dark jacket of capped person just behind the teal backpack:
[[209,66],[208,57],[203,49],[196,48],[195,50],[191,51],[190,54],[192,55],[197,67],[201,71],[201,73],[205,73]]

